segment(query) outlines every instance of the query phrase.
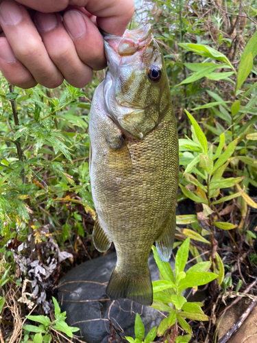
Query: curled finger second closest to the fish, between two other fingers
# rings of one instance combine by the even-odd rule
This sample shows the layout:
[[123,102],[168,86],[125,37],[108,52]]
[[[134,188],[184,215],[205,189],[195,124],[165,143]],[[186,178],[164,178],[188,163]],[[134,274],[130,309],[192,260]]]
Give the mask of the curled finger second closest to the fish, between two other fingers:
[[92,79],[92,69],[77,56],[73,41],[62,25],[60,14],[37,12],[35,23],[51,60],[65,80],[77,88],[86,86]]

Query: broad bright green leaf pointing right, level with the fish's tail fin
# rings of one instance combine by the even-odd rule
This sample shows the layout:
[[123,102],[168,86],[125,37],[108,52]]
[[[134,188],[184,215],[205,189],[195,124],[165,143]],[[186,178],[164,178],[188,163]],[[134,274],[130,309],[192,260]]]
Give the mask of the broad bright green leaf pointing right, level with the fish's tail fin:
[[182,292],[188,287],[206,285],[206,283],[215,280],[217,276],[217,274],[209,272],[191,272],[189,274],[186,273],[185,279],[180,281],[180,285],[178,286],[178,288],[180,292]]

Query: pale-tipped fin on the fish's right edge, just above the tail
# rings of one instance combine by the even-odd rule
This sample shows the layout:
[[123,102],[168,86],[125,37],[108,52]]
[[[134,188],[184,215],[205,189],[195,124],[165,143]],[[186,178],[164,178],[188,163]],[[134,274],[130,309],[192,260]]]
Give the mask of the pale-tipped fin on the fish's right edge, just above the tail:
[[172,211],[167,224],[164,226],[164,229],[156,240],[156,249],[160,256],[160,259],[163,262],[169,262],[171,258],[171,252],[173,249],[173,242],[175,236],[175,227],[176,227],[176,216],[175,210]]

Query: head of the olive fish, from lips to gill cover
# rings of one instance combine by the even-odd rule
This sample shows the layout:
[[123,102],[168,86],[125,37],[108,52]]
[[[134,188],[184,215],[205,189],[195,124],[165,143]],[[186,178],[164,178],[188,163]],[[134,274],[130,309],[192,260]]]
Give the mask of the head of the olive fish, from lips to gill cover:
[[162,119],[169,84],[151,25],[104,36],[108,71],[103,97],[112,120],[130,137],[143,139]]

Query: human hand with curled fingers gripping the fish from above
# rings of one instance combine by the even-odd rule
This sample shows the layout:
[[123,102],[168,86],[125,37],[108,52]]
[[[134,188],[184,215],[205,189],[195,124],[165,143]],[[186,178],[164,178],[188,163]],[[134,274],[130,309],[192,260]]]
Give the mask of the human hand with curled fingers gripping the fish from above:
[[[121,36],[133,0],[0,0],[0,71],[15,86],[83,87],[106,67],[97,25]],[[27,6],[27,7],[25,7]],[[36,11],[35,11],[36,10]]]

